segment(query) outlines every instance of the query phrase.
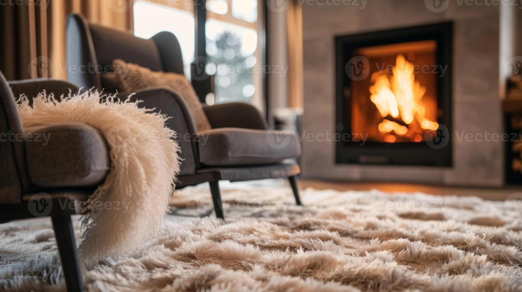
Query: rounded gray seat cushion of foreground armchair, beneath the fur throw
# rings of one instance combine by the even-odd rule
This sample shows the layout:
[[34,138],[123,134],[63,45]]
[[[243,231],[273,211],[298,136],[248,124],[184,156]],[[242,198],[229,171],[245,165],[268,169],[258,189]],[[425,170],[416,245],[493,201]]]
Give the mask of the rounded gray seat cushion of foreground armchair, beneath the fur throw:
[[100,131],[79,123],[24,129],[27,166],[35,189],[98,185],[109,173],[109,148]]

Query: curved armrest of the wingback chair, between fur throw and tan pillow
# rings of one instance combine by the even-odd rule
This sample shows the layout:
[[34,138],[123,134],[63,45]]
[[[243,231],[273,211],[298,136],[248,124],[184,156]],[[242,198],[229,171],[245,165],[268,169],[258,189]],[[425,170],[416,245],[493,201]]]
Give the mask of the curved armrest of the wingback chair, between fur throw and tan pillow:
[[[127,93],[118,93],[124,99]],[[199,168],[198,145],[196,139],[196,123],[188,109],[188,105],[181,96],[166,88],[154,88],[138,91],[132,95],[131,101],[142,101],[138,105],[152,109],[170,117],[166,125],[177,133],[176,141],[180,145],[181,163],[180,175],[194,174]]]

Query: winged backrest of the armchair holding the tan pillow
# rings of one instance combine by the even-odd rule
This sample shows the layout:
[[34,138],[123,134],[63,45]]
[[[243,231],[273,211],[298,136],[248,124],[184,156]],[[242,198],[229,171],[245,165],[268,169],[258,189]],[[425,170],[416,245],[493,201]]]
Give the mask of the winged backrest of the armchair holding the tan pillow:
[[[68,70],[77,86],[102,88],[99,68],[122,59],[152,71],[183,74],[181,46],[171,32],[162,31],[146,40],[132,33],[89,23],[79,14],[67,19],[67,63],[82,70]],[[86,70],[84,70],[84,68]]]

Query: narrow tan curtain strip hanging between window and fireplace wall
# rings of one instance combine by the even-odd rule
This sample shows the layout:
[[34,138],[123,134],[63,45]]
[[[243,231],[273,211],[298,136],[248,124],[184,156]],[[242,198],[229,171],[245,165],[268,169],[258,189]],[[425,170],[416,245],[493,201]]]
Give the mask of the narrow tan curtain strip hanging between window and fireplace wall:
[[293,0],[287,10],[288,107],[303,107],[303,19],[301,9],[299,2]]

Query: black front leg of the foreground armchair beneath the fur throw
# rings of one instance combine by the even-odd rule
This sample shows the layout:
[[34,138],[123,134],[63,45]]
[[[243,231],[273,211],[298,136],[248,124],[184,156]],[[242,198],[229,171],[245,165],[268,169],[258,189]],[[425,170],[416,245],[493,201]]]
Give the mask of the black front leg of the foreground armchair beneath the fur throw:
[[70,216],[52,217],[52,220],[67,291],[81,292],[84,290],[84,281],[81,278],[73,222]]

